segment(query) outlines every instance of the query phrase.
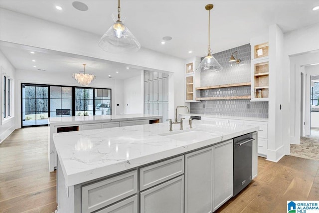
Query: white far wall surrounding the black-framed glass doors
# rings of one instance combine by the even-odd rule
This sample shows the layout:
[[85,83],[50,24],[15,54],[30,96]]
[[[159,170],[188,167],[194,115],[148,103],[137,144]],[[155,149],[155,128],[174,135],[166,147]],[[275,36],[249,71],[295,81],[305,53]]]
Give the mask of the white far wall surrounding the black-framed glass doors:
[[[81,86],[72,75],[64,75],[61,77],[54,72],[45,71],[29,71],[16,70],[15,74],[15,102],[16,106],[21,106],[21,83],[37,83],[51,85]],[[97,77],[91,82],[90,87],[110,88],[112,89],[112,114],[123,114],[123,80],[115,80]],[[116,106],[119,104],[120,106]],[[21,128],[21,112],[20,107],[15,109],[16,128]]]

